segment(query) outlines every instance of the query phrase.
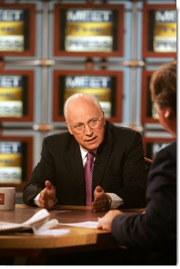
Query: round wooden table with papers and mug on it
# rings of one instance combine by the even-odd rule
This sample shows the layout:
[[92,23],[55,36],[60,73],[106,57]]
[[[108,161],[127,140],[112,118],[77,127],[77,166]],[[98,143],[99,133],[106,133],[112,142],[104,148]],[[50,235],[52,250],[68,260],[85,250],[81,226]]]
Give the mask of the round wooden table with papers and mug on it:
[[[22,223],[29,219],[37,207],[28,207],[17,204],[12,211],[2,210],[0,221]],[[94,212],[91,207],[58,206],[50,212],[50,219],[57,219],[60,223],[97,221],[106,212]],[[130,212],[142,212],[142,209]],[[45,258],[59,253],[91,251],[99,249],[117,248],[117,243],[111,233],[105,230],[60,226],[60,229],[69,229],[68,234],[62,236],[35,236],[33,234],[4,234],[0,235],[0,257],[16,257],[16,260],[26,258],[24,263],[37,264],[40,257]],[[31,258],[33,257],[33,259]],[[28,259],[27,259],[28,258]],[[31,261],[30,261],[31,260]],[[34,262],[34,263],[33,263]],[[41,261],[42,262],[42,261]],[[17,262],[18,263],[18,262]],[[43,262],[42,262],[43,263]]]

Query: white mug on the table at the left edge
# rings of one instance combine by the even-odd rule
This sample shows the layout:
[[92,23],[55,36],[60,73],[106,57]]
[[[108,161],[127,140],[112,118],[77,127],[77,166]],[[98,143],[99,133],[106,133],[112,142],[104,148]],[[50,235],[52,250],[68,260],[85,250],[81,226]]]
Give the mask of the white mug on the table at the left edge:
[[0,187],[0,210],[15,209],[16,188],[15,187]]

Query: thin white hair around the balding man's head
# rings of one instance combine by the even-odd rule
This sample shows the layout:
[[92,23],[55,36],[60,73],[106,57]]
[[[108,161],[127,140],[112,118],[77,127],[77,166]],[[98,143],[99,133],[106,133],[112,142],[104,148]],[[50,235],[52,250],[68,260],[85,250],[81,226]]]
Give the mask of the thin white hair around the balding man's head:
[[67,109],[68,109],[69,103],[71,101],[73,101],[74,99],[78,99],[79,97],[83,97],[84,99],[92,101],[99,108],[99,111],[102,111],[101,104],[99,103],[99,100],[94,95],[78,92],[77,94],[72,94],[65,101],[65,104],[64,104],[64,118],[65,118],[66,121],[67,121]]

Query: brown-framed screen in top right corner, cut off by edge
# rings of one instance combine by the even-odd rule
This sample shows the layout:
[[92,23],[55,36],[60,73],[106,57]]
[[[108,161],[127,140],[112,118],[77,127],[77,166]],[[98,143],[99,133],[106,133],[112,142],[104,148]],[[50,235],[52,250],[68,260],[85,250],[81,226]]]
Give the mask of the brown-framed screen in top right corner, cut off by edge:
[[176,4],[144,4],[142,13],[142,57],[176,58]]

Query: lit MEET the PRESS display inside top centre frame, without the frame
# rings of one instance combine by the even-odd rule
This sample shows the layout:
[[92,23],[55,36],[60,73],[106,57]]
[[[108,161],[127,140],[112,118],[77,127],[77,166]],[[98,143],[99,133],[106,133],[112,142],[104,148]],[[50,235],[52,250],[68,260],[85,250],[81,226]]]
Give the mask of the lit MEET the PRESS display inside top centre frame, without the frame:
[[69,9],[65,50],[113,51],[113,11]]

